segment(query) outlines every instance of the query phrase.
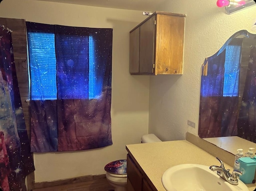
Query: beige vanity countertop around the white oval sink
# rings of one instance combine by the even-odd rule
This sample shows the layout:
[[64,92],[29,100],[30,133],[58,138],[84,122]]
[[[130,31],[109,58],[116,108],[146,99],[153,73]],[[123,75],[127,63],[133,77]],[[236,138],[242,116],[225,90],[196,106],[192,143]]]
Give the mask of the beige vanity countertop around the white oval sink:
[[[162,174],[174,165],[185,163],[220,165],[216,157],[186,140],[126,145],[126,150],[136,159],[158,191],[165,191],[161,181]],[[219,158],[222,159],[221,156]],[[227,164],[225,167],[232,169]],[[254,191],[255,184],[247,186],[249,191]]]

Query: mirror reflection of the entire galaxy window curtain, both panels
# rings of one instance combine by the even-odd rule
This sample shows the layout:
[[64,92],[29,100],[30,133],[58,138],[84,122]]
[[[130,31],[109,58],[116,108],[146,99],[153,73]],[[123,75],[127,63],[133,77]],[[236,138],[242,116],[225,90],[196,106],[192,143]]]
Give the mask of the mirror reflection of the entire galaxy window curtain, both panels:
[[201,138],[237,134],[238,88],[235,87],[239,82],[241,46],[242,40],[234,39],[204,63],[208,62],[208,71],[201,78],[198,128]]

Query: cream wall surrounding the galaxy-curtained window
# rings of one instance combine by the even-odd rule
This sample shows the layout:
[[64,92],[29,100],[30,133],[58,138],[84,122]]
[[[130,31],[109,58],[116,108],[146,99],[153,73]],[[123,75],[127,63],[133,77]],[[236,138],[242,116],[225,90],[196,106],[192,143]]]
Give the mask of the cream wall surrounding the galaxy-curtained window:
[[112,141],[88,151],[34,154],[35,181],[104,174],[110,161],[126,159],[126,144],[148,133],[149,77],[129,74],[129,31],[146,18],[141,11],[34,0],[4,0],[0,17],[66,26],[113,28]]

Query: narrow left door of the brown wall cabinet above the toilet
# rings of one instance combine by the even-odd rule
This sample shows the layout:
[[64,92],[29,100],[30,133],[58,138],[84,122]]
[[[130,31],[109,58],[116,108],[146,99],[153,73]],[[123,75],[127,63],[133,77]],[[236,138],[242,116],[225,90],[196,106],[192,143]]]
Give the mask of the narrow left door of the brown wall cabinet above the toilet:
[[139,73],[140,27],[130,32],[130,73]]

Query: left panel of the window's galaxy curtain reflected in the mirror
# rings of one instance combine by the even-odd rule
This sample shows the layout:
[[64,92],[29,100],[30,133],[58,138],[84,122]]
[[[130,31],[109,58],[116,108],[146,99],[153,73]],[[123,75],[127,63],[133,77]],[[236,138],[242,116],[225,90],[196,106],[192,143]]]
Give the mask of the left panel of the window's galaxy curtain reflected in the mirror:
[[[207,76],[201,78],[198,135],[201,138],[218,137],[221,134],[220,101],[223,94],[224,63],[223,51],[218,56],[207,58]],[[218,64],[217,64],[218,63]]]

